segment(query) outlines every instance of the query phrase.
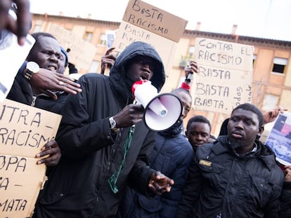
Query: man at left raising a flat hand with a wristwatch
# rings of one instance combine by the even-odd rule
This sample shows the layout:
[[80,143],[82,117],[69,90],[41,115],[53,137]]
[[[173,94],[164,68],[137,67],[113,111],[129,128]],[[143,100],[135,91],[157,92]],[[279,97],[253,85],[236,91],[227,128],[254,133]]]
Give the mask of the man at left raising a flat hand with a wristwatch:
[[[46,32],[32,34],[36,40],[27,59],[15,76],[7,98],[60,114],[68,93],[81,91],[79,84],[64,76],[65,55],[56,38]],[[38,65],[31,72],[27,63]]]

